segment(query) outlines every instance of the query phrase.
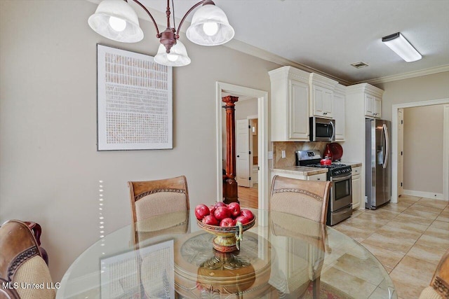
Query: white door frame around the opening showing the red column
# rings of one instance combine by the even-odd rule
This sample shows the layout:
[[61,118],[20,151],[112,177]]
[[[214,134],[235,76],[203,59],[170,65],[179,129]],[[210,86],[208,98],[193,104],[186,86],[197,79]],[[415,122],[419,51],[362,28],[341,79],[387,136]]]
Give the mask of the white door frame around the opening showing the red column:
[[[223,116],[222,116],[222,97],[226,95],[234,95],[241,98],[257,99],[257,207],[259,209],[268,209],[268,92],[263,90],[255,90],[239,85],[217,82],[216,94],[216,115],[217,115],[217,200],[221,201],[223,197],[222,190],[222,167],[223,167]],[[238,102],[237,102],[238,103]],[[252,130],[252,129],[251,129]],[[249,160],[252,158],[248,158]]]

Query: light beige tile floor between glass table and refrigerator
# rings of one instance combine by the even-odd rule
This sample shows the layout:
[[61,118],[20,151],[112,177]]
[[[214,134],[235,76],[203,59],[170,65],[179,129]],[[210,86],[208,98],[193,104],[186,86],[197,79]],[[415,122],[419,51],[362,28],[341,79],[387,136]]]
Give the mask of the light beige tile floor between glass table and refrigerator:
[[358,210],[333,228],[380,260],[399,298],[418,298],[449,249],[449,205],[444,200],[402,195],[397,204]]

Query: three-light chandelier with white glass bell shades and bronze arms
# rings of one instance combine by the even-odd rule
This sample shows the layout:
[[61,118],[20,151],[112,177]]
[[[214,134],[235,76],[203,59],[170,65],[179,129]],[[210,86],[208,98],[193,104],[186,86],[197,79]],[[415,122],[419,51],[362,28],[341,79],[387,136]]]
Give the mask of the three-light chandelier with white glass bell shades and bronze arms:
[[[229,25],[227,16],[221,8],[215,6],[212,0],[199,1],[182,17],[180,25],[175,28],[175,15],[173,15],[173,27],[170,24],[170,0],[167,0],[167,29],[162,33],[156,25],[151,13],[138,0],[138,4],[152,20],[156,28],[156,37],[161,42],[154,61],[169,67],[182,67],[190,63],[185,46],[179,41],[180,29],[187,15],[195,8],[201,6],[192,17],[192,24],[187,28],[187,39],[201,46],[218,46],[227,43],[234,37],[234,29]],[[123,43],[136,43],[142,41],[143,32],[139,26],[138,15],[128,4],[127,0],[103,0],[97,10],[88,19],[89,26],[98,34],[113,41]]]

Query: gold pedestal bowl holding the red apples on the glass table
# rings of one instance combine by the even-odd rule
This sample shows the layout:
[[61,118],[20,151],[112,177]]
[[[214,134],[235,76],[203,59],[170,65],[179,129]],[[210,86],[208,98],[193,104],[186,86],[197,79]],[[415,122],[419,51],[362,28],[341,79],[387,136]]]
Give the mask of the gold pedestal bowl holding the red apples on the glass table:
[[249,230],[255,224],[255,217],[246,224],[237,223],[235,226],[217,226],[202,223],[196,220],[198,226],[206,232],[216,237],[213,239],[213,248],[220,252],[234,252],[240,250],[240,241],[243,239],[243,232]]

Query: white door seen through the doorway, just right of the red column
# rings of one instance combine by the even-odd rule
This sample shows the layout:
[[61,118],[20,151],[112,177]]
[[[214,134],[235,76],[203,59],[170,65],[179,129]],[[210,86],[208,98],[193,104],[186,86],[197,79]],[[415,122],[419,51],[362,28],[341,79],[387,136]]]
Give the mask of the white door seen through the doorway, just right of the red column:
[[236,120],[236,181],[239,186],[251,187],[250,181],[250,122]]

